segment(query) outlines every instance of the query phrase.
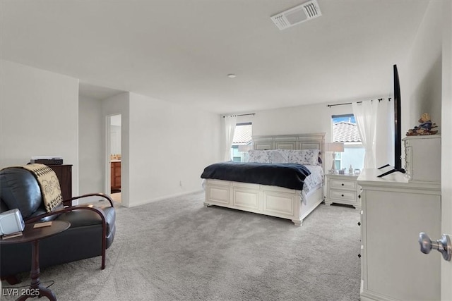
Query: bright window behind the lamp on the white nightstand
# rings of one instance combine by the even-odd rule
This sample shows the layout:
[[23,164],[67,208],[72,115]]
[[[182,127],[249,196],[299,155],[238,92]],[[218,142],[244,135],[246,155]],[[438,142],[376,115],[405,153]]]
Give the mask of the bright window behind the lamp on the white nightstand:
[[[333,125],[333,142],[343,142],[344,152],[336,154],[336,170],[348,168],[359,168],[364,166],[364,146],[359,137],[358,127],[353,114],[333,115],[331,116]],[[347,173],[346,172],[346,173]]]

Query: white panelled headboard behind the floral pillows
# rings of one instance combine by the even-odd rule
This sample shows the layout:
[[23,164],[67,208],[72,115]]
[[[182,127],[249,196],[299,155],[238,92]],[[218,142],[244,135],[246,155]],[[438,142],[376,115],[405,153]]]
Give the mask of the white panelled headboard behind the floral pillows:
[[322,166],[325,168],[325,134],[253,136],[253,149],[320,149]]

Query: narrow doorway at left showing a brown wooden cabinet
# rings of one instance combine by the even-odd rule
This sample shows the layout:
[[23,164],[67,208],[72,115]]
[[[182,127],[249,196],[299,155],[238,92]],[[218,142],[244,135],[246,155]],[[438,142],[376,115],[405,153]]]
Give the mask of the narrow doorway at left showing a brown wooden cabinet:
[[110,115],[107,142],[107,188],[114,202],[121,202],[121,114]]

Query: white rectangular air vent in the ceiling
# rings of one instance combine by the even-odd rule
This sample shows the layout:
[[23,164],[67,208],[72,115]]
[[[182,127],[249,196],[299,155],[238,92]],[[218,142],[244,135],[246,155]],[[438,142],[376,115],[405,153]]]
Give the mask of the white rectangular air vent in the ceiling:
[[307,20],[322,16],[319,4],[316,0],[308,1],[302,5],[290,8],[287,11],[271,16],[273,23],[280,29],[292,27]]

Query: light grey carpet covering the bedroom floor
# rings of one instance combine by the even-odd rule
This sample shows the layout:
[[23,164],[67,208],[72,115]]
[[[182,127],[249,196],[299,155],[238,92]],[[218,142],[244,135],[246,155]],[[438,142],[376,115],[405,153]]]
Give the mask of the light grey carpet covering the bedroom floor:
[[41,281],[59,300],[359,300],[359,211],[321,204],[297,227],[203,199],[118,208],[105,270],[95,257]]

